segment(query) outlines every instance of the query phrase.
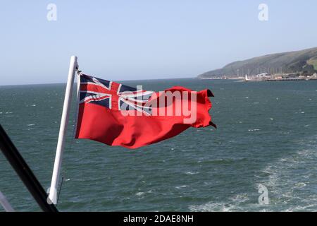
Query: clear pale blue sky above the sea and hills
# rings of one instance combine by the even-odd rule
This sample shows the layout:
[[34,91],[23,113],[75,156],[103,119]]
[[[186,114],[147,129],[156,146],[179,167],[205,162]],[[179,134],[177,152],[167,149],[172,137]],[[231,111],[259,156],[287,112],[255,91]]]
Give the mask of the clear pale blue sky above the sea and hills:
[[[46,19],[49,3],[56,21]],[[85,73],[130,80],[194,77],[317,46],[316,0],[11,0],[0,8],[0,85],[64,83],[71,55]]]

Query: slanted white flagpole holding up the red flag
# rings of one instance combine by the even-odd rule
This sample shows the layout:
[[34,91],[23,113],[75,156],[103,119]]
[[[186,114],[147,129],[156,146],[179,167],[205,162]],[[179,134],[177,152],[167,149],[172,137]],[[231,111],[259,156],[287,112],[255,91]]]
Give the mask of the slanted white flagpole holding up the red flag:
[[59,129],[54,169],[53,169],[53,175],[51,177],[51,187],[49,189],[49,197],[47,198],[47,201],[49,203],[54,203],[54,204],[57,203],[57,189],[58,189],[57,186],[58,186],[59,175],[61,174],[61,162],[63,157],[63,149],[64,149],[65,138],[66,138],[68,116],[70,112],[70,102],[72,99],[73,83],[74,83],[76,68],[77,68],[77,57],[72,56],[70,58],[66,93],[65,93],[64,105],[63,105],[63,113],[61,117],[61,127]]

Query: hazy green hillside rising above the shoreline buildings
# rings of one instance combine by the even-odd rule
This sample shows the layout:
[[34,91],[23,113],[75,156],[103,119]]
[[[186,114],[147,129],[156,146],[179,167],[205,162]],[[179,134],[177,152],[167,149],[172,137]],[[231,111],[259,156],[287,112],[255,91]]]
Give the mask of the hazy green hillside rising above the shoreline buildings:
[[235,61],[222,69],[202,73],[198,78],[236,77],[259,73],[314,73],[316,71],[317,47]]

